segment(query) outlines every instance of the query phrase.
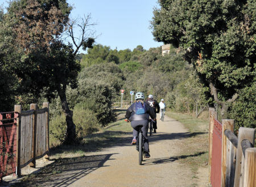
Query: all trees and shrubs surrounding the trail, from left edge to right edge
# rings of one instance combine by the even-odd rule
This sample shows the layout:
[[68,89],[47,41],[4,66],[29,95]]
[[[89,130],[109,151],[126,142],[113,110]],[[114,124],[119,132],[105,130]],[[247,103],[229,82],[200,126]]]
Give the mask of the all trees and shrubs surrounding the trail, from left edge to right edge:
[[62,38],[76,38],[65,0],[13,1],[0,10],[0,111],[49,101],[53,142],[72,143],[115,120],[124,89],[125,100],[142,91],[195,116],[217,103],[237,128],[255,128],[256,8],[238,2],[159,1],[153,34],[172,44],[162,56],[160,47],[93,45],[93,36],[71,45]]

